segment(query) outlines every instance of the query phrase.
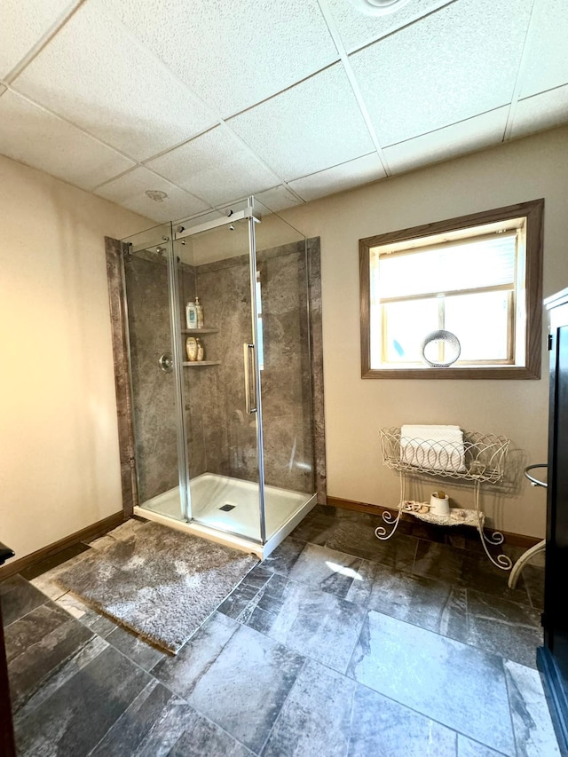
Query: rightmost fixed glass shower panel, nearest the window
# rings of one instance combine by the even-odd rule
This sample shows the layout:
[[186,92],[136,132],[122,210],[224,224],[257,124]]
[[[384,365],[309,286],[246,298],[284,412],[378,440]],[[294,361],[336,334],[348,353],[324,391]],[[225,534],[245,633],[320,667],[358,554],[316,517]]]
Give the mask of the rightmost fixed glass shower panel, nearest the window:
[[269,540],[315,492],[306,239],[255,201],[256,323]]

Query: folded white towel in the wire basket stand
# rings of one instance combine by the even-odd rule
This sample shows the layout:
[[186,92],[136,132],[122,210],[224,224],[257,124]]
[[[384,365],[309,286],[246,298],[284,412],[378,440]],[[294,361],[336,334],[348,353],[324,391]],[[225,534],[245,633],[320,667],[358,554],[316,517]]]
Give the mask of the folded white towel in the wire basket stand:
[[463,472],[463,431],[459,426],[403,426],[400,461],[417,468]]

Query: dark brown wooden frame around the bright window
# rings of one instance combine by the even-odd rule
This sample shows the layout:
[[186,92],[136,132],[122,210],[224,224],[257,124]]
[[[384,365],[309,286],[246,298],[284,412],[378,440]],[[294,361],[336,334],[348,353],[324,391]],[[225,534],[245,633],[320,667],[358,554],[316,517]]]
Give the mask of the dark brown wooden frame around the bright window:
[[[526,218],[525,267],[525,366],[491,367],[371,367],[370,250],[395,242],[412,241],[434,234],[460,231],[511,218]],[[359,240],[361,322],[361,378],[364,379],[540,379],[542,351],[542,259],[544,200],[521,202],[432,224],[399,229]]]

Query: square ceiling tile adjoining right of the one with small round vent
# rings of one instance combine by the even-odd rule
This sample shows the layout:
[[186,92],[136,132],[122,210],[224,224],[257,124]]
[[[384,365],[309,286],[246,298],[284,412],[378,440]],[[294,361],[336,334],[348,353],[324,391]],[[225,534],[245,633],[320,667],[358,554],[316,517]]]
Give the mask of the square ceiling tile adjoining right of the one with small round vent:
[[188,192],[199,194],[211,205],[262,192],[279,182],[223,126],[147,165]]

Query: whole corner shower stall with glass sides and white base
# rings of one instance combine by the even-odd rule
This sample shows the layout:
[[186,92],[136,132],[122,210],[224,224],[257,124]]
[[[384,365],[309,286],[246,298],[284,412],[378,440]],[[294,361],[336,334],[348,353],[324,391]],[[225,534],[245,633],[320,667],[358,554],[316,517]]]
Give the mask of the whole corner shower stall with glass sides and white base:
[[[126,498],[147,519],[267,556],[325,497],[318,241],[251,197],[114,251]],[[186,320],[196,297],[201,327]]]

